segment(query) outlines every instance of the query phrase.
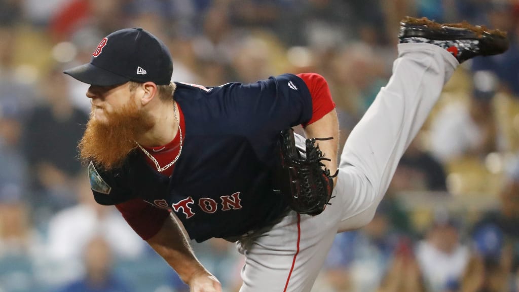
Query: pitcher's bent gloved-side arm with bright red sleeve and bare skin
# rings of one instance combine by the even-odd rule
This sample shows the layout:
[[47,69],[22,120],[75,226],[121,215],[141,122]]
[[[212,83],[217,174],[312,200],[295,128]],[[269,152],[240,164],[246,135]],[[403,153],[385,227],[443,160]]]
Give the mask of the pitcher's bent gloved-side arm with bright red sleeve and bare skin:
[[[333,175],[337,171],[337,152],[339,141],[339,122],[335,103],[332,100],[330,88],[324,77],[316,73],[297,74],[305,82],[312,97],[312,118],[303,125],[307,138],[328,138],[331,140],[318,141],[319,149],[331,161],[323,160],[322,163],[330,169]],[[334,178],[334,183],[337,177]]]

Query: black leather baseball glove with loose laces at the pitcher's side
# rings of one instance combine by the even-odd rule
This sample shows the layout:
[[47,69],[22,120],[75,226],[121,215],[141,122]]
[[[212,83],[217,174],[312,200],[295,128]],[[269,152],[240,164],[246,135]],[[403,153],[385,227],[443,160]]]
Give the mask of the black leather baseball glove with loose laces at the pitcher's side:
[[[316,140],[333,138],[306,139],[306,151],[295,144],[294,130],[283,130],[279,136],[280,161],[275,171],[276,187],[289,206],[301,214],[312,216],[321,214],[330,205],[333,191],[333,178],[330,170],[323,168],[324,154],[315,145]],[[303,155],[306,154],[306,155]]]

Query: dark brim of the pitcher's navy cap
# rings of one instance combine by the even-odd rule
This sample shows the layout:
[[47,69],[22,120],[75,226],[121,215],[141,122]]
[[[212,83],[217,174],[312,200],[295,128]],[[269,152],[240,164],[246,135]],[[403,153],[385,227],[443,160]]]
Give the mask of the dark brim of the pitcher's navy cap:
[[90,63],[65,70],[63,73],[70,75],[86,84],[98,86],[112,86],[123,84],[129,81],[127,77],[114,74],[99,67],[95,67]]

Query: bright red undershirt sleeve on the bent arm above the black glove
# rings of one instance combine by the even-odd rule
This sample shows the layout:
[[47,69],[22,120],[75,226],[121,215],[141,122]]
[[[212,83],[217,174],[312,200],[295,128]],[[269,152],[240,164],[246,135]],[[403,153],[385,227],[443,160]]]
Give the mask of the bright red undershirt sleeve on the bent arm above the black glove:
[[317,73],[301,73],[297,74],[297,77],[303,79],[312,97],[312,118],[308,123],[303,124],[303,127],[306,127],[335,109],[335,103],[323,76]]

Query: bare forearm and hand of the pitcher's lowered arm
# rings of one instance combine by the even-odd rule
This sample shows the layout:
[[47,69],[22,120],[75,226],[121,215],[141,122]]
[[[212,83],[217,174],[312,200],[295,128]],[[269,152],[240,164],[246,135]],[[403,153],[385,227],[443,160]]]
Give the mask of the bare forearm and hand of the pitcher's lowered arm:
[[159,232],[146,242],[179,274],[191,291],[222,291],[220,282],[195,257],[177,220],[171,214]]

